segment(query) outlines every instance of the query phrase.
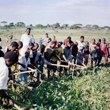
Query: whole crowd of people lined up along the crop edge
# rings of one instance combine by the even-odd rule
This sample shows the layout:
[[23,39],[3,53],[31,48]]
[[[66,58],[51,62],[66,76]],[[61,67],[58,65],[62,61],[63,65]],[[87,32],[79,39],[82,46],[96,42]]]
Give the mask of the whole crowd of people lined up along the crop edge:
[[[91,67],[98,66],[104,57],[104,63],[110,62],[110,44],[106,44],[106,39],[92,39],[89,45],[88,41],[84,41],[84,36],[79,41],[73,42],[71,37],[67,37],[63,42],[57,41],[56,37],[50,38],[48,33],[45,37],[40,38],[39,43],[35,42],[33,36],[30,35],[31,29],[27,28],[26,33],[22,35],[21,41],[11,42],[11,44],[2,50],[2,39],[0,38],[0,95],[2,101],[7,98],[10,104],[11,99],[6,94],[7,83],[13,79],[12,73],[16,71],[26,72],[28,67],[38,68],[43,73],[44,67],[47,68],[47,78],[50,78],[50,72],[53,75],[57,71],[57,63],[60,65],[70,65],[70,62],[77,65],[88,65],[89,56],[91,56]],[[94,63],[94,64],[93,64]],[[52,65],[54,64],[54,66]],[[67,74],[68,68],[60,67],[59,76],[62,70]],[[37,73],[39,81],[40,74]],[[17,82],[28,83],[28,74],[19,74]]]

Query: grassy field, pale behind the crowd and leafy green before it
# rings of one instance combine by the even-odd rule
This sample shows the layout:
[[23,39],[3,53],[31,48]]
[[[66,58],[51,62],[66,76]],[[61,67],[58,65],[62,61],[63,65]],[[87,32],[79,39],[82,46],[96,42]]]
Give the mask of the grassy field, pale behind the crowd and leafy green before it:
[[[0,37],[3,39],[3,46],[6,38],[11,34],[14,40],[19,41],[25,29],[0,30]],[[49,36],[56,36],[58,40],[64,40],[71,36],[73,41],[79,40],[81,35],[85,36],[85,41],[91,42],[92,38],[106,38],[110,42],[110,31],[107,30],[32,30],[36,42],[44,37],[45,33]],[[43,81],[38,88],[34,87],[31,95],[24,88],[8,90],[22,95],[26,95],[25,102],[20,97],[13,96],[13,99],[30,106],[32,110],[110,110],[110,66],[101,65],[87,70],[78,70],[80,77],[76,75],[74,69],[70,69],[70,74],[62,77],[57,76],[57,81]],[[46,74],[46,70],[44,71]],[[31,82],[32,83],[32,82]],[[20,106],[22,108],[22,106]],[[0,104],[0,109],[3,106]],[[16,108],[9,108],[15,110]],[[23,109],[23,108],[22,108]]]

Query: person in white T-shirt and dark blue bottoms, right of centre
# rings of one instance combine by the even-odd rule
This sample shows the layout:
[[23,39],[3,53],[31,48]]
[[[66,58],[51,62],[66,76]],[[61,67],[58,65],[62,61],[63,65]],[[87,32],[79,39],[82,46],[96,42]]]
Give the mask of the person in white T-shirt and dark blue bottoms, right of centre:
[[81,36],[80,41],[77,41],[77,43],[78,43],[77,65],[82,65],[85,48],[84,36]]

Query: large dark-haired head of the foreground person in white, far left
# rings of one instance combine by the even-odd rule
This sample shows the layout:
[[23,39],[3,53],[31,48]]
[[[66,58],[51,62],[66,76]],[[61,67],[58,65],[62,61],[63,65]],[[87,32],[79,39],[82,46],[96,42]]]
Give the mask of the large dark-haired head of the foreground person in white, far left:
[[12,66],[18,61],[18,56],[15,52],[9,51],[4,55],[5,63],[8,67]]

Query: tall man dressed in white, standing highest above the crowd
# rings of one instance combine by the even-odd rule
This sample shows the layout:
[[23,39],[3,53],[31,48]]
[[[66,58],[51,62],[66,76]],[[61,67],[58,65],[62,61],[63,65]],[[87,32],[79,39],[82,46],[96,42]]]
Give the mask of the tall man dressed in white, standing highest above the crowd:
[[21,49],[21,53],[20,53],[21,56],[25,55],[25,52],[27,51],[27,47],[28,47],[29,43],[33,43],[30,32],[31,32],[31,29],[27,28],[26,33],[23,34],[21,37],[21,41],[23,42],[23,48]]

